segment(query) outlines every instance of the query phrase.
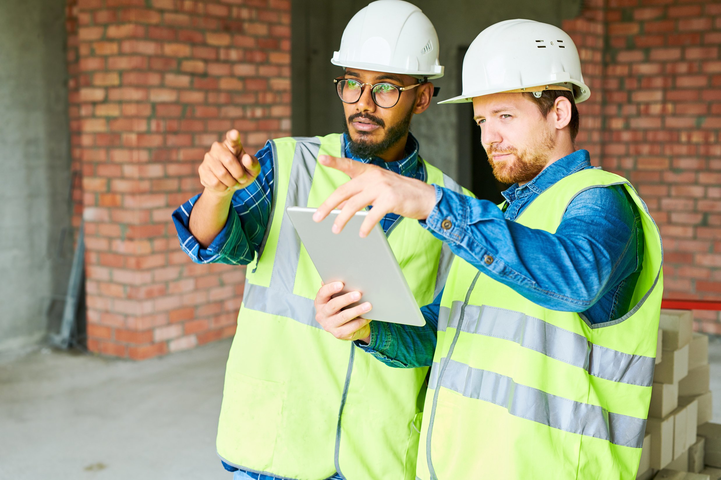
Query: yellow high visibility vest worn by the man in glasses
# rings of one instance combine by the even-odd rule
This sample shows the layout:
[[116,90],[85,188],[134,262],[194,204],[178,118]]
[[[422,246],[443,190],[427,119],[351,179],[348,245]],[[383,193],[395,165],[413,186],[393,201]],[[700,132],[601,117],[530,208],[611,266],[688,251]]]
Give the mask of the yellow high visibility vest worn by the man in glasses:
[[[271,142],[273,211],[255,268],[249,266],[226,368],[218,455],[281,478],[415,479],[428,368],[392,368],[341,342],[315,320],[321,279],[286,214],[319,207],[349,177],[317,163],[342,156],[342,137]],[[461,188],[423,163],[426,181]],[[453,255],[415,219],[388,241],[419,305],[433,302]],[[373,261],[369,258],[368,261]]]

